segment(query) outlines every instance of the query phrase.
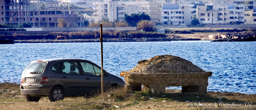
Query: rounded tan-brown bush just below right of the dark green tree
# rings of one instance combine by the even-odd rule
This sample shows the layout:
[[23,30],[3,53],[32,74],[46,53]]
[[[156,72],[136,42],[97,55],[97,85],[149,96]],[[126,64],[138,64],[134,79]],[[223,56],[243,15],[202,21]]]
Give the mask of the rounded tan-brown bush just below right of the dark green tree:
[[148,20],[142,20],[137,24],[137,30],[143,29],[145,31],[155,31],[155,28],[155,23]]

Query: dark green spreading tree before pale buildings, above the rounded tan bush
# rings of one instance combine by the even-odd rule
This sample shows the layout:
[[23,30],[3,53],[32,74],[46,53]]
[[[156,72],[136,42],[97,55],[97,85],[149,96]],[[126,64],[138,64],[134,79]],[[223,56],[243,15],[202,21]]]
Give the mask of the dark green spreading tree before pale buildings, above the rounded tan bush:
[[150,20],[150,16],[145,14],[131,14],[131,15],[124,15],[124,20],[130,26],[137,26],[137,23],[141,20]]

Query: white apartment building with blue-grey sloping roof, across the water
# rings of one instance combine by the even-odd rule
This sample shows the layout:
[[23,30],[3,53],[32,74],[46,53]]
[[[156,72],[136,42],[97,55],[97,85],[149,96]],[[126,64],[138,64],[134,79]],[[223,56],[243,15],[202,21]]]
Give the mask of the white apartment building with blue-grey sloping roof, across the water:
[[190,25],[192,21],[193,4],[163,4],[161,23],[173,25]]

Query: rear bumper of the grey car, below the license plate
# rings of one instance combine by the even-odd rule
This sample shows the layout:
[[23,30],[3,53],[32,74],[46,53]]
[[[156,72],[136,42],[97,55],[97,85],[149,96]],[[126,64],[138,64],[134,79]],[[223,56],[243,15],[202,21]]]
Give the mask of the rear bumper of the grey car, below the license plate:
[[31,95],[31,96],[48,96],[50,94],[51,85],[39,85],[38,89],[22,89],[20,86],[20,92],[22,95]]

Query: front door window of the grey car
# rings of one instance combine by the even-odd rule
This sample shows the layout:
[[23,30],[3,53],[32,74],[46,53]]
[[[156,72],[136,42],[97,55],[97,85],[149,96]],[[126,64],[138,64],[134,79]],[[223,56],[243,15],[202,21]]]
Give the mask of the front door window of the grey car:
[[83,68],[83,74],[84,75],[95,75],[95,71],[93,69],[93,65],[88,62],[81,61],[81,66]]

